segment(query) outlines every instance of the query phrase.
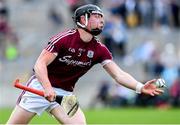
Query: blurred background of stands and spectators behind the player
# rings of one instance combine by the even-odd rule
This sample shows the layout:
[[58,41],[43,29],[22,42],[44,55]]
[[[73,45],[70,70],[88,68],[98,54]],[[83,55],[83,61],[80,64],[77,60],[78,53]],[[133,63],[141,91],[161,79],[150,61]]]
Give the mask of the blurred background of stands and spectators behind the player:
[[101,65],[77,83],[82,108],[180,107],[180,1],[179,0],[0,0],[0,108],[14,107],[48,39],[74,27],[73,11],[93,3],[105,14],[99,38],[115,62],[137,80],[163,78],[168,86],[158,97],[135,94],[114,84]]

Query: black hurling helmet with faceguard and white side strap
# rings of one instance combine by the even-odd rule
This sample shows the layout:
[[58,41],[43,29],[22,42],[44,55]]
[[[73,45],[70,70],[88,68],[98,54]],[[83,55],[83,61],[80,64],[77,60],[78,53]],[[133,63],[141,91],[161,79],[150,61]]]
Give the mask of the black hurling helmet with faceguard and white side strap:
[[[102,16],[103,12],[102,10],[93,4],[87,4],[84,6],[81,6],[79,8],[77,8],[74,12],[74,16],[73,16],[73,20],[76,23],[76,25],[82,29],[84,29],[85,31],[89,32],[90,34],[92,34],[93,36],[97,36],[102,32],[102,29],[96,28],[96,29],[92,29],[92,30],[88,30],[86,27],[88,25],[88,19],[90,17],[91,14],[100,14]],[[85,24],[82,25],[80,23],[80,17],[84,15],[85,16]]]

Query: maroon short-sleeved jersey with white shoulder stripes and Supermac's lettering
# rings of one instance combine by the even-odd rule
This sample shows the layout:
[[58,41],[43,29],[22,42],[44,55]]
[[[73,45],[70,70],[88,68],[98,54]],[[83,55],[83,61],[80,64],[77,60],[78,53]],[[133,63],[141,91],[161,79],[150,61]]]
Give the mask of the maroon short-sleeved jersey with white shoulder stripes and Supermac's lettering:
[[76,29],[52,37],[45,49],[57,55],[47,67],[52,86],[67,91],[73,91],[77,80],[93,65],[105,65],[112,60],[111,53],[102,43],[95,38],[83,42]]

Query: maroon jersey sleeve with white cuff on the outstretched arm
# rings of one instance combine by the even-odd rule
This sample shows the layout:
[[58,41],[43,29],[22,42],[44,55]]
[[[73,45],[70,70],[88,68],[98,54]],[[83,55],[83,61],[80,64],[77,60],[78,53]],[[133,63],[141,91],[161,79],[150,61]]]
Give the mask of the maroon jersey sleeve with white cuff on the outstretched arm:
[[102,66],[106,65],[107,63],[111,62],[113,57],[111,52],[107,49],[107,47],[103,44],[100,45],[100,63]]

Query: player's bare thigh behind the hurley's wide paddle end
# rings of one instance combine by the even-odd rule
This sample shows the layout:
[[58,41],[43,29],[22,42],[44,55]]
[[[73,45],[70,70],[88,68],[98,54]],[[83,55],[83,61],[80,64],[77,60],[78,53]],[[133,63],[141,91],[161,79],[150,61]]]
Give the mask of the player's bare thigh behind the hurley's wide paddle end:
[[86,118],[81,108],[78,108],[77,112],[72,117],[65,114],[61,106],[52,109],[51,114],[63,124],[86,124]]

